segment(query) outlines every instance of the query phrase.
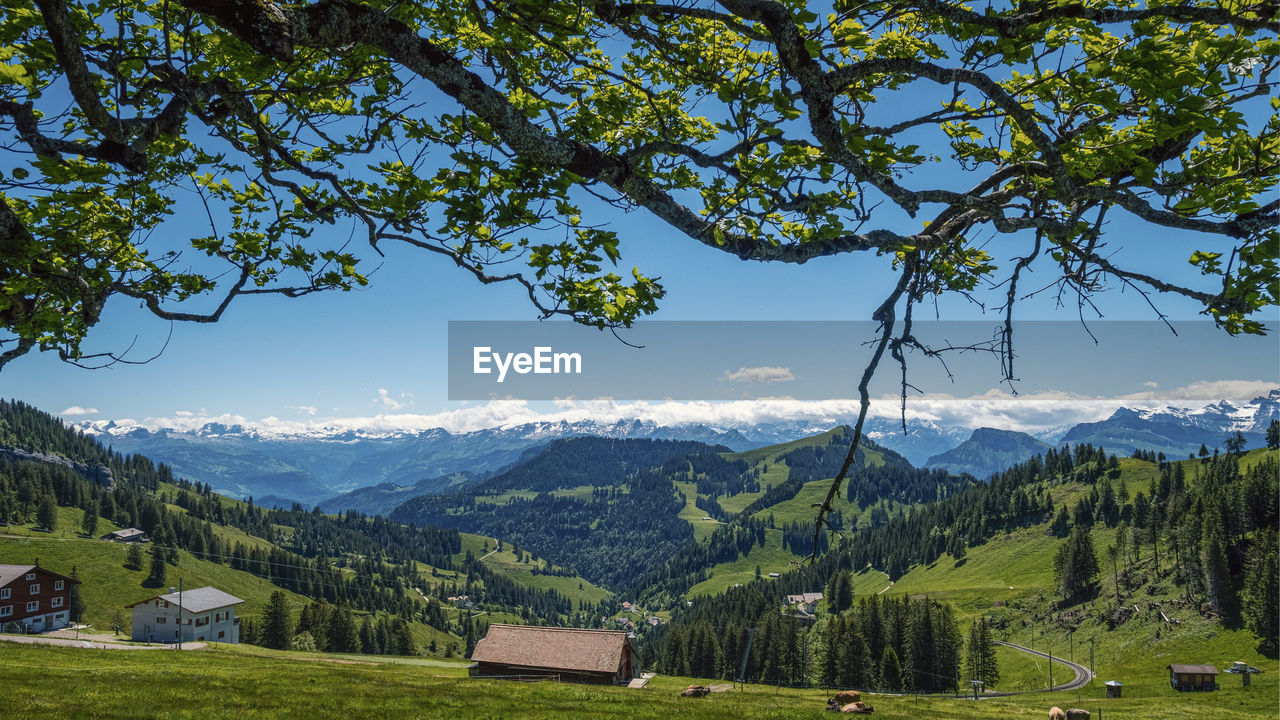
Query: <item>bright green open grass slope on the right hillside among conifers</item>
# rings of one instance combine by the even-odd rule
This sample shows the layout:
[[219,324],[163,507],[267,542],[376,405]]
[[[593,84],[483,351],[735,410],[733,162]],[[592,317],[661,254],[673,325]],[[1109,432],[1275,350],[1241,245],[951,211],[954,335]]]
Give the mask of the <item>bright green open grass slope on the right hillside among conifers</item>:
[[[1265,456],[1263,451],[1253,451],[1244,459],[1244,464],[1260,462]],[[1153,465],[1121,459],[1120,466],[1130,495],[1138,489],[1146,492]],[[1053,496],[1059,503],[1064,500],[1074,503],[1084,492],[1087,486],[1057,486]],[[1201,618],[1194,607],[1179,605],[1180,588],[1172,585],[1167,575],[1160,582],[1125,592],[1124,605],[1140,603],[1146,609],[1148,602],[1164,602],[1166,612],[1180,620],[1181,625],[1166,626],[1158,621],[1155,612],[1144,610],[1137,619],[1108,630],[1105,616],[1115,609],[1116,601],[1111,565],[1106,560],[1105,551],[1114,542],[1115,530],[1102,525],[1094,527],[1092,533],[1101,570],[1097,578],[1100,587],[1097,597],[1065,609],[1055,607],[1053,602],[1059,596],[1053,584],[1052,559],[1062,541],[1044,534],[1044,530],[1046,525],[1037,525],[996,536],[984,544],[969,548],[965,560],[959,564],[952,557],[943,556],[933,565],[913,568],[899,579],[888,594],[928,594],[948,602],[955,607],[961,625],[966,625],[966,620],[978,615],[987,615],[993,619],[997,628],[1002,628],[996,633],[998,639],[1047,650],[1055,656],[1071,656],[1084,664],[1088,664],[1092,638],[1098,679],[1093,689],[1076,693],[1082,698],[1101,696],[1101,683],[1111,679],[1124,683],[1126,700],[1174,696],[1175,693],[1169,689],[1169,675],[1165,670],[1165,665],[1171,662],[1212,664],[1225,669],[1233,661],[1243,660],[1262,667],[1265,674],[1261,678],[1280,673],[1280,664],[1276,660],[1257,653],[1252,634],[1225,629],[1217,621]],[[1165,555],[1166,552],[1167,548],[1161,550],[1161,562],[1167,573],[1171,559]],[[1143,547],[1142,559],[1139,562],[1146,562],[1142,568],[1149,569],[1149,547]],[[868,585],[874,585],[867,579],[860,580],[869,575],[883,579],[883,575],[869,571],[855,575],[855,593],[865,594]],[[1075,628],[1070,634],[1069,626]],[[1044,659],[1009,650],[997,652],[1004,676],[1000,689],[1032,689],[1048,684]],[[1055,683],[1061,683],[1064,678],[1069,678],[1066,671],[1055,665]],[[1252,696],[1258,694],[1258,678],[1254,676]],[[1210,694],[1224,698],[1221,702],[1224,712],[1230,707],[1243,707],[1239,706],[1240,698],[1248,696],[1240,692],[1240,679],[1224,674],[1220,675],[1220,682],[1226,688]],[[1176,694],[1176,697],[1189,696]],[[1268,715],[1242,716],[1275,716],[1277,708],[1275,697],[1272,692],[1271,705],[1267,706],[1271,710]]]

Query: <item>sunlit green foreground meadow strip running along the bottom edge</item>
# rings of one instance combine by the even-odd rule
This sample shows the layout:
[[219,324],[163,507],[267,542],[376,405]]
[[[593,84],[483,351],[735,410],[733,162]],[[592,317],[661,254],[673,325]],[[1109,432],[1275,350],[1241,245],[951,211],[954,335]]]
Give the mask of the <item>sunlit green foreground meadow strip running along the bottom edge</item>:
[[[5,646],[0,696],[15,717],[628,717],[762,720],[831,717],[820,689],[749,685],[708,698],[677,697],[690,680],[659,676],[645,689],[470,680],[462,662],[279,653],[260,648],[119,652]],[[303,692],[300,692],[303,691]],[[876,717],[1042,719],[1050,705],[1103,708],[1108,717],[1244,720],[1275,716],[1276,674],[1253,688],[1175,693],[1167,687],[1103,700],[1101,688],[980,702],[868,696]]]

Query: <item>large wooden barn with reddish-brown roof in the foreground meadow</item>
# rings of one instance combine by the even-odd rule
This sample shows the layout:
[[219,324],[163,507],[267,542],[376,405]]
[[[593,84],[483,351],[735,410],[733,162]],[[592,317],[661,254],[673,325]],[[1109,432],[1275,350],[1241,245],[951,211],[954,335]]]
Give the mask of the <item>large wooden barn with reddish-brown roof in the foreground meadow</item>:
[[636,651],[620,630],[494,624],[471,660],[472,678],[625,685],[637,671]]

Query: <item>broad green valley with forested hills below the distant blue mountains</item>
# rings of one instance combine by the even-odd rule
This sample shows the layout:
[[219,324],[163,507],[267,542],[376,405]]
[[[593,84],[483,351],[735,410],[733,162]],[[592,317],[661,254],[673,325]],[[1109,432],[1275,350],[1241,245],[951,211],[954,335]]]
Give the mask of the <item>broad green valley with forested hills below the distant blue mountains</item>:
[[[1160,667],[1194,660],[1220,667],[1244,661],[1263,670],[1247,694],[1224,687],[1219,694],[1233,698],[1229,702],[1197,698],[1198,714],[1248,717],[1274,707],[1274,698],[1260,692],[1274,685],[1280,665],[1251,629],[1249,603],[1258,592],[1252,583],[1274,582],[1258,580],[1252,557],[1274,537],[1275,512],[1258,500],[1276,496],[1276,450],[1169,460],[1146,451],[1115,457],[1079,445],[1050,448],[979,479],[918,469],[864,442],[851,482],[833,506],[833,532],[819,536],[814,548],[813,505],[824,497],[847,452],[847,428],[745,451],[698,441],[553,439],[498,471],[429,480],[443,492],[402,502],[387,520],[298,503],[264,509],[218,495],[166,465],[108,454],[35,409],[6,405],[3,416],[0,429],[10,437],[23,429],[26,439],[15,445],[108,468],[114,487],[95,486],[67,466],[4,465],[0,510],[9,523],[0,532],[0,564],[38,559],[59,571],[74,568],[83,579],[82,621],[102,629],[123,620],[125,637],[122,600],[156,591],[148,588],[146,562],[127,569],[128,548],[97,536],[141,523],[159,536],[152,546],[169,547],[170,585],[180,578],[188,588],[215,585],[244,601],[238,616],[251,642],[266,623],[273,593],[280,592],[298,618],[297,632],[306,629],[320,641],[310,652],[326,657],[328,626],[315,618],[349,607],[356,626],[367,626],[361,635],[370,642],[356,647],[367,655],[332,657],[370,659],[358,662],[375,665],[357,666],[372,674],[374,684],[394,687],[394,675],[413,667],[421,682],[453,688],[465,667],[454,662],[470,655],[492,623],[591,628],[603,619],[632,633],[644,666],[660,673],[648,691],[639,691],[643,698],[654,697],[654,688],[677,687],[680,678],[727,680],[745,666],[748,678],[763,684],[749,684],[748,696],[776,688],[769,692],[780,707],[790,708],[787,716],[809,712],[805,698],[812,691],[804,691],[805,684],[833,682],[890,693],[877,698],[877,714],[911,716],[892,693],[911,691],[942,666],[951,667],[942,675],[950,679],[934,678],[928,687],[964,691],[970,674],[964,653],[972,644],[965,633],[980,621],[991,628],[992,641],[1055,659],[1082,662],[1092,651],[1096,683],[1070,691],[1082,706],[1097,702],[1105,679],[1125,685],[1126,702],[1106,701],[1112,710],[1142,698],[1172,701]],[[40,527],[35,511],[50,492],[56,506],[52,532]],[[1210,516],[1221,525],[1172,521],[1203,516],[1213,497],[1222,505]],[[1152,536],[1157,506],[1160,529]],[[100,518],[86,534],[90,514]],[[1066,518],[1061,528],[1060,515]],[[1092,530],[1096,569],[1084,589],[1064,596],[1057,556],[1071,528]],[[1206,601],[1213,587],[1207,584],[1210,556],[1198,547],[1219,532],[1225,533],[1228,584],[1216,591],[1219,600]],[[1107,548],[1119,548],[1115,560]],[[801,562],[813,551],[817,559]],[[813,610],[815,621],[801,625],[792,611],[778,612],[783,596],[806,592],[823,593]],[[1231,614],[1228,621],[1224,612]],[[929,662],[943,664],[934,670],[919,665],[924,646],[918,643],[925,641],[911,639],[922,626],[910,620],[916,614],[932,618]],[[868,629],[870,618],[879,629]],[[406,635],[396,634],[398,623]],[[380,639],[381,633],[411,641]],[[842,674],[835,650],[840,646],[832,643],[849,641],[840,638],[859,638],[855,647],[863,647],[856,652],[864,659],[856,662],[869,671]],[[227,655],[210,662],[224,667],[216,671],[233,685],[236,665],[252,667],[266,657],[297,664],[303,674],[325,665],[298,655],[310,646],[298,647],[271,656],[276,651],[255,644],[227,646]],[[753,652],[745,660],[748,647]],[[890,650],[899,651],[892,661]],[[76,662],[56,648],[15,652],[45,657],[54,666]],[[1001,644],[992,655],[1000,678],[989,683],[991,692],[1050,687],[1047,659]],[[438,660],[415,665],[420,657]],[[890,665],[914,669],[891,674]],[[1053,674],[1057,685],[1069,670],[1055,662]],[[480,708],[484,701],[475,693],[483,694],[476,688],[484,683],[442,693]],[[660,714],[666,702],[643,700],[639,707],[636,694],[614,697],[609,689],[527,692],[552,703],[596,693],[591,697],[611,705],[602,716]],[[691,716],[721,716],[737,707],[730,698],[714,696],[719,702]],[[264,697],[244,702],[273,712]],[[408,697],[394,702],[428,716],[443,712]],[[915,710],[927,707],[941,717],[984,717],[987,708],[997,707],[1015,716],[1043,711],[1034,696],[1020,694],[966,705],[937,697],[913,702]]]

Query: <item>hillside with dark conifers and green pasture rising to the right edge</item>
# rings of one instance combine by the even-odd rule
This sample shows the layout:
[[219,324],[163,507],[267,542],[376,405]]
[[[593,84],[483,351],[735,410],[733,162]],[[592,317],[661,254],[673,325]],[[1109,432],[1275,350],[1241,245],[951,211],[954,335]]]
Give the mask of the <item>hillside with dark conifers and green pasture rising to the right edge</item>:
[[[1275,450],[1181,461],[1051,450],[833,537],[814,562],[777,579],[672,602],[671,625],[645,635],[645,651],[668,671],[736,678],[750,642],[749,679],[920,691],[951,691],[961,678],[998,687],[992,638],[1057,638],[1061,652],[1068,635],[1087,635],[1128,648],[1108,651],[1125,671],[1156,675],[1149,655],[1201,657],[1196,648],[1217,635],[1249,638],[1251,652],[1274,659],[1277,483]],[[676,569],[696,574],[763,530],[741,519],[686,548],[648,597],[678,597],[689,580]],[[786,609],[786,596],[803,592],[826,596],[812,626]],[[1144,650],[1130,647],[1135,637]],[[1222,647],[1233,642],[1244,655],[1238,641]]]

